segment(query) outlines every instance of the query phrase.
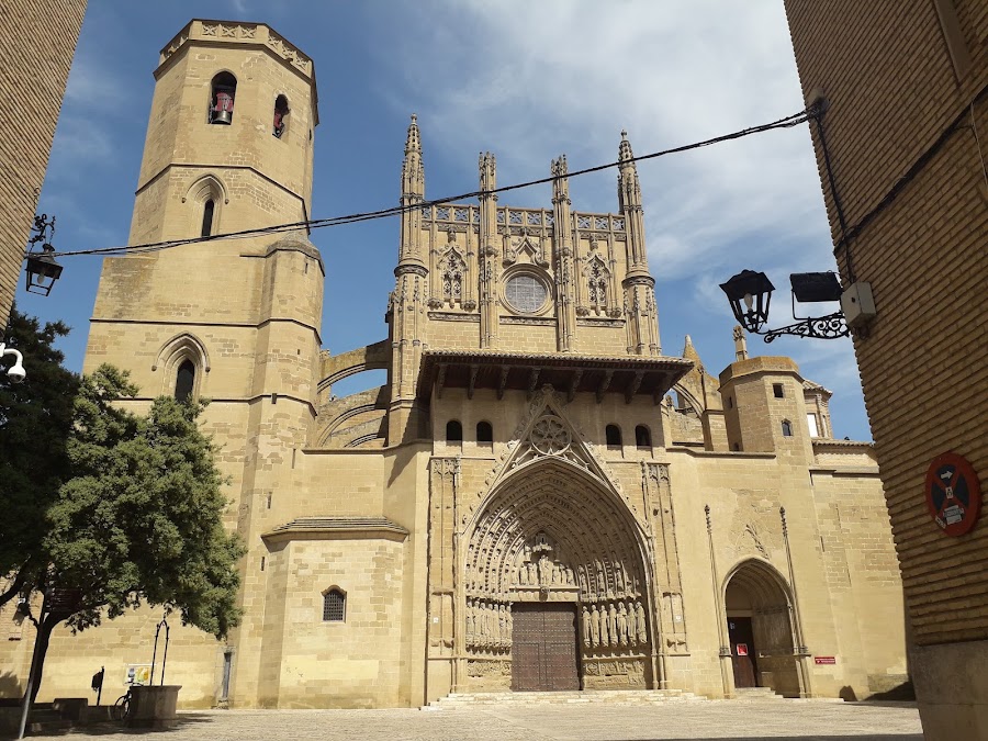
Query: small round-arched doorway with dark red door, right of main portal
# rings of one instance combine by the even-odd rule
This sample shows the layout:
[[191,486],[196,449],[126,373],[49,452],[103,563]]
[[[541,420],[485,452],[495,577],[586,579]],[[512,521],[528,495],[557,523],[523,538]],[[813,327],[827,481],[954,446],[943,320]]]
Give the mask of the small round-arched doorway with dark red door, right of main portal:
[[763,561],[744,561],[727,579],[723,605],[734,687],[770,687],[799,697],[791,600],[785,580]]

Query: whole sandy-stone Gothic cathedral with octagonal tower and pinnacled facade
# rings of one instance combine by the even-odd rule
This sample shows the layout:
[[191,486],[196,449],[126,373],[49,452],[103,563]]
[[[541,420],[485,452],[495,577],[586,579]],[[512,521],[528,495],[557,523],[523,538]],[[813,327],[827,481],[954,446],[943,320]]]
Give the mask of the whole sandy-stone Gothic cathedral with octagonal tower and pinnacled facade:
[[[306,54],[265,24],[193,20],[155,80],[130,244],[311,217]],[[663,353],[627,136],[614,213],[574,206],[565,157],[551,203],[498,200],[491,154],[475,202],[430,201],[427,143],[413,115],[394,290],[366,347],[322,349],[326,266],[304,228],[103,263],[85,370],[126,368],[135,411],[210,400],[248,549],[228,639],[172,627],[180,706],[905,682],[871,444],[833,439],[831,392],[749,357],[740,329],[717,377],[688,337]],[[386,383],[334,393],[370,370]],[[40,699],[78,695],[101,664],[104,696],[122,694],[160,617],[57,632]],[[33,631],[0,618],[23,676]]]

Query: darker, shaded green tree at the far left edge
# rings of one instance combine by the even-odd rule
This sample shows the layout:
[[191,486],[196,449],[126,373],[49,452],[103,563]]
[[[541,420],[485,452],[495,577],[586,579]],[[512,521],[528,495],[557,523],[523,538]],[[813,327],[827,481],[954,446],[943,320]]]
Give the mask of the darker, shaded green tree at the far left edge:
[[68,478],[66,445],[79,377],[61,367],[55,341],[68,334],[61,322],[42,327],[16,307],[3,341],[24,356],[27,378],[15,384],[0,368],[0,606],[36,581],[45,515]]

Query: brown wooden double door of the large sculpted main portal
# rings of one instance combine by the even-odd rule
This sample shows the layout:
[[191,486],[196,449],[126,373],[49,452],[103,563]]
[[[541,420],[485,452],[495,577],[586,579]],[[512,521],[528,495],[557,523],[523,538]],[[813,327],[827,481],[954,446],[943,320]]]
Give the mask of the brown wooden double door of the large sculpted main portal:
[[572,603],[512,606],[512,689],[580,689],[576,608]]

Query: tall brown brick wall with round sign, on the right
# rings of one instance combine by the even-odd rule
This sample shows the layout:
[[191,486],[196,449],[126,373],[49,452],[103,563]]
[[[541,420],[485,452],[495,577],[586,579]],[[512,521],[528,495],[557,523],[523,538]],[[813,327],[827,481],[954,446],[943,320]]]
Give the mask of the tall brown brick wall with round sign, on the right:
[[[817,131],[813,143],[842,280],[869,282],[877,307],[854,346],[927,738],[988,738],[988,691],[962,709],[939,689],[941,677],[965,676],[973,656],[988,655],[988,526],[943,535],[923,491],[945,451],[988,483],[988,4],[785,5],[805,97],[819,89],[829,102],[835,189]],[[834,190],[852,232],[847,250]]]

